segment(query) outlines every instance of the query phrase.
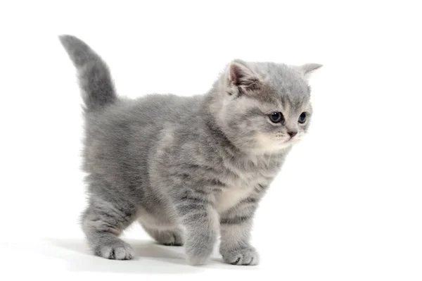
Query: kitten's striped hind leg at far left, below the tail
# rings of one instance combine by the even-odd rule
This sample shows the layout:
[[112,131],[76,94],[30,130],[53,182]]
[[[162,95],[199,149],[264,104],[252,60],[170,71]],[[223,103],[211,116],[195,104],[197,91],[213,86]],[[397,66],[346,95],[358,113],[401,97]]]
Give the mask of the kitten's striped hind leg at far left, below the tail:
[[82,230],[94,254],[116,260],[131,259],[134,256],[132,247],[118,236],[134,218],[136,208],[132,204],[91,198],[82,216]]

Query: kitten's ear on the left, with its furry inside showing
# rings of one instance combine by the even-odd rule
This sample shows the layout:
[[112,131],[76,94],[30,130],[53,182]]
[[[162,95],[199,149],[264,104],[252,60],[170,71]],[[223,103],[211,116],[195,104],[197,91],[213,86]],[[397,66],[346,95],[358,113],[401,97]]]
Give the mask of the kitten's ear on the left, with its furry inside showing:
[[234,60],[230,63],[228,77],[231,85],[245,91],[258,89],[261,85],[260,77],[248,67],[247,63],[241,60]]

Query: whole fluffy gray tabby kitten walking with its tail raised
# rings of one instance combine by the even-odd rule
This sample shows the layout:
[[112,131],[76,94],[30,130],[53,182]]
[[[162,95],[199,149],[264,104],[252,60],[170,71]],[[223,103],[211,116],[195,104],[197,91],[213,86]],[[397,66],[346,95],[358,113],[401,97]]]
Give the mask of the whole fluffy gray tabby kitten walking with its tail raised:
[[207,262],[217,237],[226,263],[256,265],[252,217],[312,116],[307,77],[319,64],[231,61],[203,95],[117,96],[106,63],[70,35],[60,42],[84,99],[89,206],[82,229],[93,253],[134,256],[118,238],[135,220],[158,243]]

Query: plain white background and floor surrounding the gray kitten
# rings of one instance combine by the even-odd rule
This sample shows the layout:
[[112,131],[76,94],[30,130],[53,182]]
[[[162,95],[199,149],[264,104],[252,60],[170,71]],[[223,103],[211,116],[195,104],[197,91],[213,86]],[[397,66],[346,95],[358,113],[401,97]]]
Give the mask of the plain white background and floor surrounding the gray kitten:
[[[283,2],[2,1],[0,279],[422,280],[418,1]],[[60,34],[131,97],[204,93],[233,58],[324,64],[309,135],[256,216],[260,266],[187,266],[138,225],[124,235],[134,261],[87,251],[81,99]]]

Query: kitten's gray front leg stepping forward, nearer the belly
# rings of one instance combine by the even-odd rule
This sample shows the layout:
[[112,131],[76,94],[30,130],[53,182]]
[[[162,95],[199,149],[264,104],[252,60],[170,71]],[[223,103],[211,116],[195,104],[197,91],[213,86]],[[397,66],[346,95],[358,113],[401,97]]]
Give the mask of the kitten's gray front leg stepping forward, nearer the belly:
[[202,265],[217,242],[219,218],[211,194],[184,189],[173,195],[174,208],[184,228],[185,251],[191,265]]

